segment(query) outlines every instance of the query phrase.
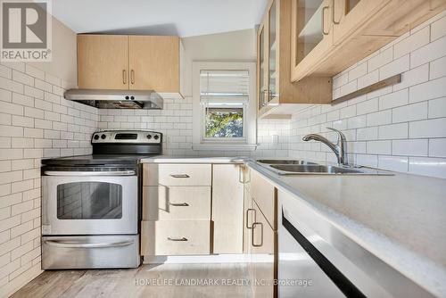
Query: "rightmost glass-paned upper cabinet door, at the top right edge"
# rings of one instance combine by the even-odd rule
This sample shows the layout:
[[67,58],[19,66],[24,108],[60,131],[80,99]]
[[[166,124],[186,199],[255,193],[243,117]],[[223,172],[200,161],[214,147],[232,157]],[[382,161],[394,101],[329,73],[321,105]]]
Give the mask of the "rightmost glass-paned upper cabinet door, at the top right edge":
[[391,0],[333,0],[334,44],[340,44]]

